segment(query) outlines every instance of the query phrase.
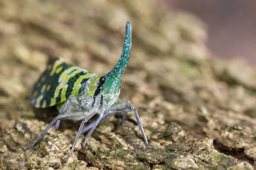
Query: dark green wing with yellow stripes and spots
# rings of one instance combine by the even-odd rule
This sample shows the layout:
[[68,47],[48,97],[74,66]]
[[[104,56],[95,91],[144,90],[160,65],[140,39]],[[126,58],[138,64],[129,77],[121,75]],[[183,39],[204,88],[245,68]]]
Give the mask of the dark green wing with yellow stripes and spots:
[[54,59],[35,83],[30,102],[45,108],[64,102],[70,94],[77,95],[81,85],[96,74],[69,65],[61,58]]

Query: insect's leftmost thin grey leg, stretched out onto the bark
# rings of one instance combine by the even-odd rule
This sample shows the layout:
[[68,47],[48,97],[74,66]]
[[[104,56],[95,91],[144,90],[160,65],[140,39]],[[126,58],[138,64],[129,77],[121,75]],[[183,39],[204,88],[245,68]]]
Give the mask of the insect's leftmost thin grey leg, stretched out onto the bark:
[[46,127],[46,129],[44,130],[43,133],[41,133],[41,135],[35,140],[35,142],[29,146],[27,146],[25,148],[25,150],[27,150],[29,147],[32,147],[32,146],[35,146],[45,135],[45,133],[47,133],[47,131],[49,130],[49,128],[52,127],[52,125],[54,125],[54,123],[57,121],[57,120],[63,120],[63,119],[73,119],[73,118],[76,118],[76,117],[81,117],[81,116],[85,116],[84,114],[82,113],[75,113],[75,114],[67,114],[67,115],[58,115],[56,116],[52,122],[50,122],[50,124]]

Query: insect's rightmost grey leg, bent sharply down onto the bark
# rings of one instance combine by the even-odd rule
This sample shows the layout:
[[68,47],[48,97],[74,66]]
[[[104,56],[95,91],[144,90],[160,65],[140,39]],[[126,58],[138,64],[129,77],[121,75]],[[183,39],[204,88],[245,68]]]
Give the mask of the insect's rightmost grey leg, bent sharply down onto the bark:
[[140,121],[140,117],[139,117],[139,114],[137,112],[137,110],[133,107],[133,106],[130,106],[130,107],[126,107],[126,108],[113,108],[113,109],[108,109],[107,111],[108,113],[117,113],[117,112],[134,112],[134,115],[135,115],[135,118],[136,118],[136,121],[140,127],[140,132],[143,136],[143,139],[144,139],[144,142],[146,145],[152,147],[153,149],[155,149],[155,147],[152,145],[152,144],[149,144],[148,143],[148,139],[145,135],[145,132],[143,130],[143,126],[141,124],[141,121]]

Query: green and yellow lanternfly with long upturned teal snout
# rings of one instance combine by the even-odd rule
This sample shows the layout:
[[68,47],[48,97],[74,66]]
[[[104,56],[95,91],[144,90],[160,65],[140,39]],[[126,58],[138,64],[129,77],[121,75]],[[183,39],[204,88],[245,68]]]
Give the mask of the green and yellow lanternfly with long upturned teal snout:
[[[60,113],[50,122],[35,142],[26,147],[26,150],[35,146],[50,127],[55,125],[55,129],[57,129],[61,120],[82,120],[70,155],[65,159],[67,161],[72,156],[81,133],[90,130],[82,145],[84,148],[99,122],[113,113],[120,112],[124,112],[121,125],[124,123],[127,112],[134,112],[145,144],[154,148],[152,144],[148,143],[138,112],[131,105],[131,102],[129,100],[121,103],[115,102],[120,93],[121,76],[128,63],[130,52],[131,23],[127,22],[121,58],[107,74],[90,73],[77,66],[66,64],[61,58],[53,60],[38,79],[38,82],[35,83],[30,102],[36,108],[57,105]],[[99,113],[96,121],[83,129],[84,123],[96,113]]]

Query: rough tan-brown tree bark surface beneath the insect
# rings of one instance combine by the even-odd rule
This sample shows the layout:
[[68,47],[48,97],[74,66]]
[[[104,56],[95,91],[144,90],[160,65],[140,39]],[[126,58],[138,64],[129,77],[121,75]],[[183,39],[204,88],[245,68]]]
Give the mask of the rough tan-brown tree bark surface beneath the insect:
[[[157,0],[0,0],[0,169],[214,169],[256,165],[256,69],[239,59],[212,59],[207,33],[191,14]],[[29,104],[49,58],[61,56],[94,73],[118,61],[125,23],[133,26],[120,99],[137,108],[105,119],[70,153],[79,122],[61,122],[25,151],[56,116]]]

